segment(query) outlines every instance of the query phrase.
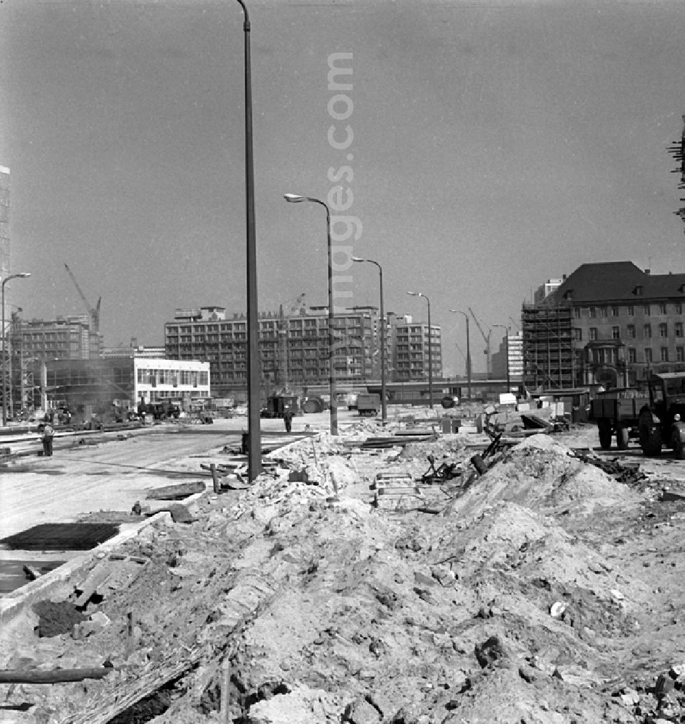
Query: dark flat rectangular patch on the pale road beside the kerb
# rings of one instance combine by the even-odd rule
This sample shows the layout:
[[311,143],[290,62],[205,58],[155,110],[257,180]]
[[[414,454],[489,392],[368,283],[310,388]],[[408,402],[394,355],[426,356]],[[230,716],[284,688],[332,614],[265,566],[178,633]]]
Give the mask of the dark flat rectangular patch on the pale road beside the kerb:
[[0,539],[9,550],[90,550],[119,532],[114,523],[42,523]]

